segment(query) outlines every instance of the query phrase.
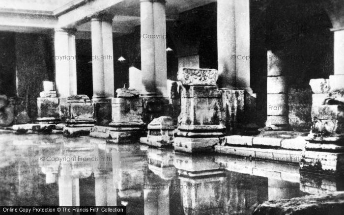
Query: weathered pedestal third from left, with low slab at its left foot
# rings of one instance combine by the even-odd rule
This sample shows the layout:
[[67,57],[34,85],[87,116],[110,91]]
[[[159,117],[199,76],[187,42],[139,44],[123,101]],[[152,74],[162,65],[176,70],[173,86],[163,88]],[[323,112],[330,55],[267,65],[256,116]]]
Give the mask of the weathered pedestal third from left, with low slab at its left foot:
[[112,98],[112,122],[95,126],[90,136],[107,138],[112,143],[135,143],[143,134],[142,100],[134,89],[117,89]]

